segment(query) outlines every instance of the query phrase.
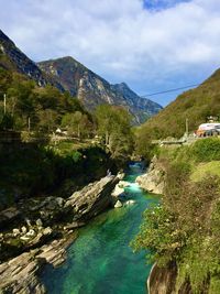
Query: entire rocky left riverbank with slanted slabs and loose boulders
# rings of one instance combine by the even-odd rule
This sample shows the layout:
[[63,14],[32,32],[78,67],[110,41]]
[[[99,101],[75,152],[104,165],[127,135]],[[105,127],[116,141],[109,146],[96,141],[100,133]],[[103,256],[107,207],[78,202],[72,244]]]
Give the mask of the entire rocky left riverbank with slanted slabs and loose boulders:
[[114,205],[111,193],[119,179],[107,176],[67,199],[32,198],[1,211],[0,293],[45,293],[38,273],[46,263],[64,262],[76,229]]

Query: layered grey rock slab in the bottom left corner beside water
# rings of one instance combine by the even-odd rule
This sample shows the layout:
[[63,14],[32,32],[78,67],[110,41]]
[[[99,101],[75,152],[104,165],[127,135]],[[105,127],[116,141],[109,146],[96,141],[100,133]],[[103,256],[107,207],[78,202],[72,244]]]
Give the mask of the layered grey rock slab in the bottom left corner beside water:
[[54,240],[40,249],[0,264],[0,293],[2,294],[44,294],[45,286],[38,274],[45,264],[58,266],[66,259],[66,247],[76,236],[69,239]]

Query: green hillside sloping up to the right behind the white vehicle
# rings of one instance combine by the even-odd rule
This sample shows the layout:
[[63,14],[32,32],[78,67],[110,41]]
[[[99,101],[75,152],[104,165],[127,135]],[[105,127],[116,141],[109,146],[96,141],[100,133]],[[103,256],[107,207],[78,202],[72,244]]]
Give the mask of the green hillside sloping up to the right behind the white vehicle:
[[153,138],[180,138],[186,129],[186,119],[189,131],[194,131],[209,116],[220,119],[220,69],[199,87],[179,95],[158,115],[147,120],[141,131]]

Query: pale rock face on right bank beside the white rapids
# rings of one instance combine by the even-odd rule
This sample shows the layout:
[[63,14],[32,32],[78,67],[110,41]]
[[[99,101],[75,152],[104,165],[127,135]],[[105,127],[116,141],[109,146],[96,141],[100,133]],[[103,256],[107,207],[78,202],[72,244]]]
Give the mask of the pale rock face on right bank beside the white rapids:
[[146,174],[138,176],[136,183],[145,190],[154,194],[163,194],[165,186],[165,171],[157,163],[156,157],[152,160]]

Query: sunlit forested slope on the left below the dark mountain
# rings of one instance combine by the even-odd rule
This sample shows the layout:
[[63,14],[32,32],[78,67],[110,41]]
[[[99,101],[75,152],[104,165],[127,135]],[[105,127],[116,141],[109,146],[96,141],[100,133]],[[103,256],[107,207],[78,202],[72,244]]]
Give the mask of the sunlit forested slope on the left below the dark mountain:
[[[51,85],[41,88],[25,76],[0,68],[0,112],[3,109],[3,95],[7,95],[7,116],[12,118],[3,122],[2,128],[24,131],[52,133],[61,126],[64,116],[81,113],[80,132],[90,133],[94,128],[92,117],[80,102],[68,92],[59,92]],[[4,119],[6,119],[4,118]],[[2,116],[0,115],[0,121]]]

